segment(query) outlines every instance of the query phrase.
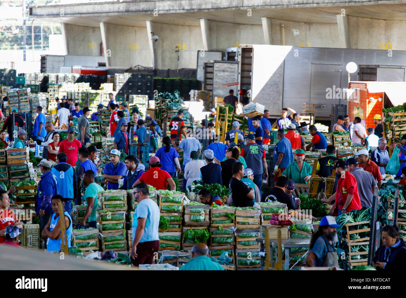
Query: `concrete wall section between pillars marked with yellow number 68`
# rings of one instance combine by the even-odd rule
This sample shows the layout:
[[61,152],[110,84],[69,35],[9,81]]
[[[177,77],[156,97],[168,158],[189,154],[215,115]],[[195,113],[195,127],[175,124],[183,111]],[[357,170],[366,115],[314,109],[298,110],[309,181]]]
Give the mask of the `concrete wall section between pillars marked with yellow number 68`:
[[112,66],[151,67],[147,29],[145,27],[119,26],[106,23],[107,49],[111,49]]

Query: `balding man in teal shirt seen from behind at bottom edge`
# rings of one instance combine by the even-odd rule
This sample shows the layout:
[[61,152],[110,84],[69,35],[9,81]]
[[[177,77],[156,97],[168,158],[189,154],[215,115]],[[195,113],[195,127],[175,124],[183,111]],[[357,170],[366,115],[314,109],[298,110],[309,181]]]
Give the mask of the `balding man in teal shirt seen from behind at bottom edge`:
[[179,270],[224,270],[220,264],[213,262],[208,254],[209,248],[206,244],[195,244],[192,248],[192,259]]

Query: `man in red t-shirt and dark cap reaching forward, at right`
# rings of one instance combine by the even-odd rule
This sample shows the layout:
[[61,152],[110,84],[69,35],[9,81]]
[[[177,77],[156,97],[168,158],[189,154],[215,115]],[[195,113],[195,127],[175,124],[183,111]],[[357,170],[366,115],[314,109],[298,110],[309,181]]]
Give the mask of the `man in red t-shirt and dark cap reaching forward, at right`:
[[335,200],[334,208],[331,208],[328,215],[336,216],[341,213],[351,212],[351,210],[361,209],[356,178],[346,171],[346,167],[346,162],[342,160],[337,161],[333,167],[335,173],[341,177],[337,183],[337,191],[328,199],[322,199],[322,202],[325,203]]

